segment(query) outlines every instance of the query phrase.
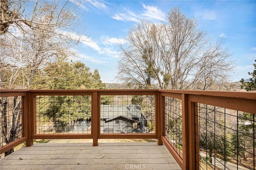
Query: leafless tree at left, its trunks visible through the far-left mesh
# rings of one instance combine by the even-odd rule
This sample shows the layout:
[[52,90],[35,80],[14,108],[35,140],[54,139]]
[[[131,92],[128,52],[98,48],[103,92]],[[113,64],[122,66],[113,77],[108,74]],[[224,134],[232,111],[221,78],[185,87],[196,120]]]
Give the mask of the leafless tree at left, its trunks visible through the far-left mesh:
[[[73,55],[70,47],[79,41],[76,27],[80,18],[74,14],[77,6],[60,0],[0,2],[0,88],[35,88],[38,77],[50,75],[44,68]],[[76,35],[75,41],[72,35]],[[0,97],[0,105],[1,138],[10,143],[21,128],[21,114],[17,115],[21,113],[21,98]],[[11,152],[13,149],[5,155]]]

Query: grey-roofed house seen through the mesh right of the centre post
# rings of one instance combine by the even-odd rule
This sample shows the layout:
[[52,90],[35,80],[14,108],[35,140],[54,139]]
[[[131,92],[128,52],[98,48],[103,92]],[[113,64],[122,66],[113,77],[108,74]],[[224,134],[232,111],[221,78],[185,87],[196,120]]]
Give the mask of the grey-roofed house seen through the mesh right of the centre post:
[[140,105],[101,105],[100,130],[102,133],[144,133],[147,119]]

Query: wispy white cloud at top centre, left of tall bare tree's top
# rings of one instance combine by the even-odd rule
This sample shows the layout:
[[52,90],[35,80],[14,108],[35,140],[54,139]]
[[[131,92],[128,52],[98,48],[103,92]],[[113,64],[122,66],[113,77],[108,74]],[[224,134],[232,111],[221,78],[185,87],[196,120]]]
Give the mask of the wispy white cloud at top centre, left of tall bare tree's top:
[[140,20],[165,20],[165,14],[160,9],[155,6],[147,6],[142,4],[145,11],[140,12],[139,14],[135,14],[134,12],[124,8],[125,13],[117,13],[114,16],[110,16],[111,18],[119,21],[132,21],[132,22],[140,22]]

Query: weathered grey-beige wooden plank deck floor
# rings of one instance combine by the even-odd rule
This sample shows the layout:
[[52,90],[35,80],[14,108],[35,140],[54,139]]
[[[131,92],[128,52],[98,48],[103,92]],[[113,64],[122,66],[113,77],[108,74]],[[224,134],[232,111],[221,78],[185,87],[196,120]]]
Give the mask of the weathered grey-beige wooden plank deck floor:
[[180,170],[166,147],[143,143],[44,143],[16,150],[0,160],[8,170]]

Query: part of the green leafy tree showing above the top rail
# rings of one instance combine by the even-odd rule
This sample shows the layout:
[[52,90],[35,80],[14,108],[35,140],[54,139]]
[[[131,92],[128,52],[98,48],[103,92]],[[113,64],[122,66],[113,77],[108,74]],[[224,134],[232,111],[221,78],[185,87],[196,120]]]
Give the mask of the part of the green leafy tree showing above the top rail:
[[48,79],[44,79],[47,89],[104,89],[106,87],[100,80],[98,70],[95,69],[92,73],[90,68],[81,61],[59,61],[45,70],[50,73]]

